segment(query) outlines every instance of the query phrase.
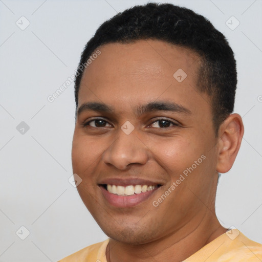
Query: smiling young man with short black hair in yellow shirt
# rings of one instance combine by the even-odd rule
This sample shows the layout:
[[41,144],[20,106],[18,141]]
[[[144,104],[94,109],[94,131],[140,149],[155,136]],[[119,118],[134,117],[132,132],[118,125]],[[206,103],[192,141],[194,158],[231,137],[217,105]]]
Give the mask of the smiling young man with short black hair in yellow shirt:
[[224,35],[170,4],[136,6],[87,43],[75,79],[78,192],[109,237],[60,261],[260,261],[215,215],[244,134]]

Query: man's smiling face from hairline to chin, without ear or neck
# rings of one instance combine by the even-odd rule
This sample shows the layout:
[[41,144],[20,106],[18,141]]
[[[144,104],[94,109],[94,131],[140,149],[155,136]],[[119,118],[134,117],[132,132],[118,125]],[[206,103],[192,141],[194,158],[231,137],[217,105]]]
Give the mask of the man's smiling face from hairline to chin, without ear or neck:
[[189,232],[213,210],[217,182],[210,98],[196,86],[199,57],[158,40],[99,50],[79,90],[72,164],[80,197],[120,242]]

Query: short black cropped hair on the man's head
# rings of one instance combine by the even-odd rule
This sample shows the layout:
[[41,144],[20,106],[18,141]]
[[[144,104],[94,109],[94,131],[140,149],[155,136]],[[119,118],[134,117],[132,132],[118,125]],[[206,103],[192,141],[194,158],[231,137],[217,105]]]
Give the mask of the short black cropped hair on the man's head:
[[188,48],[200,57],[197,88],[211,97],[215,134],[233,112],[237,83],[234,53],[225,36],[208,19],[172,4],[134,6],[105,21],[86,43],[75,75],[75,101],[83,75],[82,64],[107,43],[163,40]]

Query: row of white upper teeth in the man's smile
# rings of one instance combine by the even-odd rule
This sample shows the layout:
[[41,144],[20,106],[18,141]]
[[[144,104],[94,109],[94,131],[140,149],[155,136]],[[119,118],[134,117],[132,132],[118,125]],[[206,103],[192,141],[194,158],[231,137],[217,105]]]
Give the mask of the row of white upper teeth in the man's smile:
[[151,191],[156,188],[153,185],[130,185],[130,186],[116,186],[116,185],[106,185],[107,191],[118,195],[132,195],[140,194],[141,192]]

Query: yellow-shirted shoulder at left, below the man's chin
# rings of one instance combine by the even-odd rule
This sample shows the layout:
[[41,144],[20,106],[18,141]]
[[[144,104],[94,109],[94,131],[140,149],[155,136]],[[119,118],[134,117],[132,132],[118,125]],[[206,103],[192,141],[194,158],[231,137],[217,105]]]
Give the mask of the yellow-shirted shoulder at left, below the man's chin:
[[59,260],[58,262],[106,262],[105,250],[108,242],[109,239],[106,239],[103,242],[93,244]]

